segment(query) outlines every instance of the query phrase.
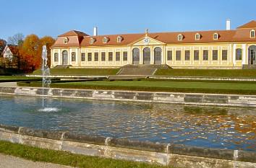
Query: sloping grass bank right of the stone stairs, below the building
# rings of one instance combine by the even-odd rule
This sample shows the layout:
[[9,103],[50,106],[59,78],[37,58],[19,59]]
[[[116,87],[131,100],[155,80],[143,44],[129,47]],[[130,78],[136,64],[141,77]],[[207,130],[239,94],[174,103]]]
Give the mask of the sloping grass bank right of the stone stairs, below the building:
[[158,69],[155,75],[256,78],[256,69]]

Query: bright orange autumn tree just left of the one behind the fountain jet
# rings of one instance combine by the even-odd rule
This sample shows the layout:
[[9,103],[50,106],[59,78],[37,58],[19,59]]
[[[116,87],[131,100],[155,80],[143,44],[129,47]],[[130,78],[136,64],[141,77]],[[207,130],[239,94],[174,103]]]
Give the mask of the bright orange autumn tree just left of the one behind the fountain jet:
[[23,68],[27,71],[35,71],[41,64],[42,45],[37,35],[27,35],[20,50]]

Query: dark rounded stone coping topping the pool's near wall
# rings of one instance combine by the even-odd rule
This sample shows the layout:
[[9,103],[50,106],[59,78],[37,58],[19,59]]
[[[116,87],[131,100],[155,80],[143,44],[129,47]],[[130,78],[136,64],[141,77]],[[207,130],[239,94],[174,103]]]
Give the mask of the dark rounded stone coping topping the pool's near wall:
[[118,147],[121,149],[135,149],[138,151],[153,151],[163,154],[180,154],[186,156],[199,156],[211,159],[225,159],[231,161],[256,163],[256,152],[254,151],[210,149],[198,146],[184,146],[182,144],[174,143],[153,143],[150,141],[133,141],[126,138],[112,138],[103,136],[93,136],[88,134],[74,134],[62,131],[46,131],[3,124],[0,124],[0,131],[16,133],[22,136],[33,136],[59,141],[90,143],[101,146]]

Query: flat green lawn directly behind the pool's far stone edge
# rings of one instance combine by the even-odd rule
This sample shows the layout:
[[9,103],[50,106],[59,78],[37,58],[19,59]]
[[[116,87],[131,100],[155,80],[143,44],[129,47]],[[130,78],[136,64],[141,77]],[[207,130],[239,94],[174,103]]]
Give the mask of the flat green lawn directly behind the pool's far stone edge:
[[[19,84],[24,86],[24,83]],[[25,84],[26,85],[26,84]],[[26,85],[27,86],[27,85]],[[31,83],[28,86],[40,86]],[[122,89],[156,92],[202,92],[220,94],[256,94],[256,82],[210,81],[83,81],[51,84],[74,89]]]

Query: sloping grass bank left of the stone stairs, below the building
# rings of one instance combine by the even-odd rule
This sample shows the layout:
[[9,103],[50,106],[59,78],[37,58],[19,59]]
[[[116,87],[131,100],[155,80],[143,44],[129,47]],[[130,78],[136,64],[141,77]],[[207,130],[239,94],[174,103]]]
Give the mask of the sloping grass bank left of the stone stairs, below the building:
[[[115,75],[119,68],[51,68],[51,75]],[[41,75],[40,69],[33,72],[34,75]]]

